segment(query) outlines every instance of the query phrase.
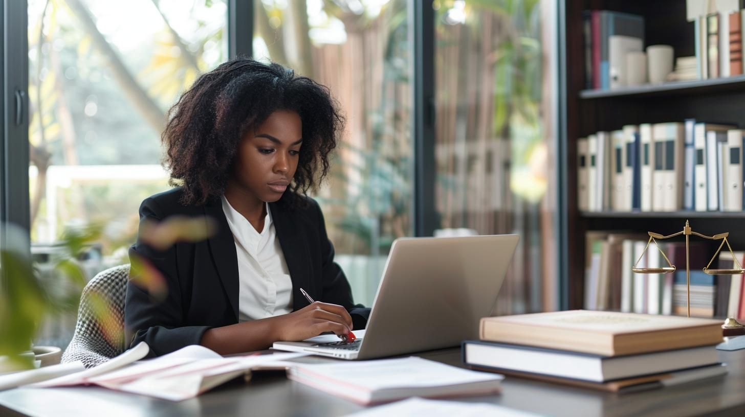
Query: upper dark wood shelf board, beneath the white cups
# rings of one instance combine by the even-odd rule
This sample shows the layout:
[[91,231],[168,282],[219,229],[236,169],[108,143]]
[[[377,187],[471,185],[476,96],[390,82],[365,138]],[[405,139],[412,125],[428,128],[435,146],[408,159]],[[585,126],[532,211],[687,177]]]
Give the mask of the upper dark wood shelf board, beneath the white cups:
[[726,78],[712,78],[711,80],[677,81],[674,83],[647,84],[644,86],[623,87],[612,90],[582,90],[580,98],[612,98],[612,97],[650,97],[653,95],[677,95],[688,93],[731,92],[733,89],[745,90],[745,75]]

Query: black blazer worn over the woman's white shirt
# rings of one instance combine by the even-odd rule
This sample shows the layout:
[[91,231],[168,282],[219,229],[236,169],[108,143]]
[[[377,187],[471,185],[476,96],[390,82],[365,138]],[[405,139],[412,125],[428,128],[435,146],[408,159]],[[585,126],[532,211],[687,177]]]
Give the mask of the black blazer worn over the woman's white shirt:
[[[165,299],[156,302],[145,288],[131,279],[127,283],[125,337],[130,347],[148,343],[150,356],[199,344],[207,329],[238,322],[238,256],[222,203],[183,206],[179,203],[182,194],[181,188],[174,188],[145,199],[139,208],[140,226],[145,220],[161,221],[174,215],[208,216],[215,220],[217,231],[206,241],[179,242],[166,250],[154,249],[140,238],[130,248],[130,258],[145,258],[168,286]],[[334,262],[334,246],[326,235],[320,207],[308,198],[307,207],[296,208],[288,204],[288,198],[269,206],[290,270],[293,309],[308,305],[299,291],[302,287],[315,300],[342,305],[352,316],[354,328],[364,328],[370,308],[352,301],[349,282]]]

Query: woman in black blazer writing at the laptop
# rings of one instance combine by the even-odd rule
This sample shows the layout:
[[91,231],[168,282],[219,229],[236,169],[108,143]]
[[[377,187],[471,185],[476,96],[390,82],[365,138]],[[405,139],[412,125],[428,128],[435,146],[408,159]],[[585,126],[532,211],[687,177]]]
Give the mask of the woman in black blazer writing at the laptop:
[[[179,187],[148,197],[130,258],[168,293],[127,284],[127,343],[154,355],[201,344],[220,354],[364,328],[334,262],[320,208],[305,197],[329,170],[343,116],[329,90],[277,64],[235,59],[201,76],[169,112],[165,166]],[[175,184],[174,184],[175,185]],[[211,217],[206,241],[148,245],[142,225]],[[309,304],[307,291],[323,302]]]

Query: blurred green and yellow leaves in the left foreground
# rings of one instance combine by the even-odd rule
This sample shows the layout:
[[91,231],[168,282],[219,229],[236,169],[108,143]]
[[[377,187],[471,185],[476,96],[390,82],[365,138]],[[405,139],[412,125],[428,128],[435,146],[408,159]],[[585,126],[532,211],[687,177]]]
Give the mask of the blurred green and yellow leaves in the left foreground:
[[[21,368],[31,368],[33,363],[22,353],[31,348],[42,319],[47,314],[77,311],[80,293],[89,276],[80,259],[86,249],[101,238],[101,224],[69,227],[54,252],[52,273],[41,274],[28,255],[28,237],[22,230],[7,225],[9,241],[0,250],[0,275],[6,290],[0,292],[0,356],[8,355]],[[202,241],[215,232],[209,217],[172,217],[162,223],[143,223],[139,236],[143,242],[157,250],[168,250],[182,241]],[[131,258],[130,278],[150,293],[153,299],[164,299],[168,287],[161,273],[147,260]],[[91,290],[90,306],[99,323],[113,322],[115,307],[101,293]],[[104,337],[115,346],[121,343],[122,334],[112,332],[116,326],[101,325]]]

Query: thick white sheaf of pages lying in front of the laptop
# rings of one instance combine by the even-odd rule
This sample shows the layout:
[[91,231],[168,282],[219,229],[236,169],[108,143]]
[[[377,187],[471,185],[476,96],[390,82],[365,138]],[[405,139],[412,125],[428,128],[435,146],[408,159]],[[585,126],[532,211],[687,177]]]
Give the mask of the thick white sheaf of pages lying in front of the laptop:
[[498,392],[504,379],[421,357],[301,363],[288,370],[288,378],[364,405],[409,397],[486,395]]

